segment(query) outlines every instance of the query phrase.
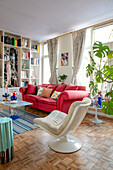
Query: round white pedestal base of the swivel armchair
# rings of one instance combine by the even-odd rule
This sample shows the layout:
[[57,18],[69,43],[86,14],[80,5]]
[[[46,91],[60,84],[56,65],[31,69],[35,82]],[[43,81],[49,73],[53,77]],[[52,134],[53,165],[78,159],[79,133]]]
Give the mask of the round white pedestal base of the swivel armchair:
[[81,141],[78,138],[71,135],[51,140],[49,141],[48,145],[54,151],[61,153],[75,152],[82,147]]

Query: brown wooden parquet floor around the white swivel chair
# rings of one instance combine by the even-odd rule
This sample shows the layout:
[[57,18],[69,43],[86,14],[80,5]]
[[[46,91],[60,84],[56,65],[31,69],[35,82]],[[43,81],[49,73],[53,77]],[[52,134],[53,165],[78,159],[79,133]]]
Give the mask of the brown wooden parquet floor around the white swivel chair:
[[[26,110],[39,112],[31,108]],[[72,133],[83,143],[79,151],[71,154],[52,151],[48,141],[53,137],[38,128],[14,137],[14,159],[0,165],[0,170],[113,170],[113,119],[101,117],[103,123],[95,124],[90,122],[93,117],[87,114]]]

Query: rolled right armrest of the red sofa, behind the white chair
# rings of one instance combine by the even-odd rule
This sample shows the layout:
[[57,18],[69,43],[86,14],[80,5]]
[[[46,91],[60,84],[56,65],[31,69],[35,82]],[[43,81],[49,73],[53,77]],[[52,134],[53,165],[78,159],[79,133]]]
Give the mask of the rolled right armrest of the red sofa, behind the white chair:
[[81,101],[84,97],[88,96],[89,93],[83,90],[63,91],[58,97],[58,110],[68,113],[69,107],[74,101]]

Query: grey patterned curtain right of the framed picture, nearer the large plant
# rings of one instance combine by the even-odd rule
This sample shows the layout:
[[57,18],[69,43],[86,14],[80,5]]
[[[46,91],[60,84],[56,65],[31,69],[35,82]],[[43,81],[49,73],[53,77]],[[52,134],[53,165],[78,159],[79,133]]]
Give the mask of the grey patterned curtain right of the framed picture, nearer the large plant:
[[86,29],[75,31],[72,33],[73,39],[73,75],[72,84],[77,84],[77,74],[82,61],[82,53],[85,44]]

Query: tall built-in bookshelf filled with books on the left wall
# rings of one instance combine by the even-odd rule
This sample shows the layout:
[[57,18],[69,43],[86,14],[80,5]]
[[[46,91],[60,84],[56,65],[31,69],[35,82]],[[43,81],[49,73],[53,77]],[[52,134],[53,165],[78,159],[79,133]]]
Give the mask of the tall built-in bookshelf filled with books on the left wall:
[[40,44],[18,34],[0,30],[0,88],[7,82],[7,62],[11,67],[11,87],[39,83]]

